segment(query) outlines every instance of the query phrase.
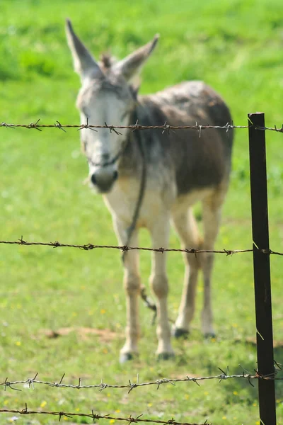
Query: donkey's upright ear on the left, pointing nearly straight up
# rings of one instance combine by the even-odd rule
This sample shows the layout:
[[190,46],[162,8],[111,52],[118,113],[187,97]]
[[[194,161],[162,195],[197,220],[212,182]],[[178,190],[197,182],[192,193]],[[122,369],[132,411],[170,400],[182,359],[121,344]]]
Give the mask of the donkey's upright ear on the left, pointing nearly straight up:
[[74,33],[71,21],[66,19],[66,34],[71,55],[74,60],[74,69],[81,76],[81,80],[87,77],[100,77],[103,75],[96,60],[92,57],[88,49]]

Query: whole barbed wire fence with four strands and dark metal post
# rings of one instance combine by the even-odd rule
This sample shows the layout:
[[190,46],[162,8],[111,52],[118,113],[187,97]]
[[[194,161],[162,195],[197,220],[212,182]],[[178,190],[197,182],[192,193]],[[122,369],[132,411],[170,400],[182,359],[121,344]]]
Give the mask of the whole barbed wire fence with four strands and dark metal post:
[[[97,244],[63,244],[60,242],[27,242],[21,237],[18,241],[0,241],[0,244],[18,244],[23,246],[37,245],[37,246],[52,246],[53,248],[57,247],[72,247],[83,250],[91,249],[119,249],[122,252],[129,251],[132,249],[140,249],[146,251],[183,251],[187,254],[202,254],[204,252],[214,252],[216,254],[238,254],[253,251],[253,267],[254,267],[254,281],[255,281],[255,314],[256,314],[256,328],[257,328],[257,353],[258,353],[258,369],[255,371],[255,374],[247,373],[246,370],[243,370],[243,373],[240,375],[229,375],[229,370],[227,373],[224,370],[221,370],[220,375],[208,376],[208,377],[198,377],[190,378],[186,377],[183,379],[162,379],[155,380],[151,382],[139,383],[138,378],[137,382],[130,382],[127,385],[113,385],[106,384],[105,382],[100,382],[100,384],[93,385],[82,385],[81,379],[79,380],[78,385],[65,385],[62,383],[64,375],[59,382],[45,382],[36,380],[35,378],[28,380],[16,380],[8,381],[8,378],[0,386],[3,386],[6,390],[11,388],[12,390],[19,390],[16,385],[25,384],[28,386],[34,387],[34,385],[47,385],[49,387],[71,387],[76,389],[97,387],[100,391],[105,390],[105,388],[115,387],[115,388],[127,388],[131,392],[134,388],[142,387],[145,385],[156,385],[157,389],[160,385],[171,384],[175,385],[176,382],[187,382],[192,381],[198,384],[198,380],[212,380],[217,379],[219,382],[221,380],[228,379],[246,379],[253,385],[252,380],[258,381],[258,397],[259,397],[259,407],[260,407],[260,421],[264,425],[275,425],[276,424],[276,409],[275,409],[275,380],[283,380],[279,378],[277,373],[282,371],[282,365],[274,361],[273,358],[273,337],[272,337],[272,305],[271,305],[271,286],[270,286],[270,254],[276,254],[282,256],[283,253],[272,251],[269,246],[269,234],[268,234],[268,213],[267,213],[267,174],[266,174],[266,159],[265,159],[265,131],[275,131],[283,132],[282,128],[268,128],[265,127],[265,120],[263,113],[252,113],[248,114],[248,125],[236,126],[233,124],[227,123],[224,126],[212,126],[212,125],[186,125],[181,127],[175,127],[171,125],[155,125],[155,126],[144,126],[135,123],[134,125],[129,126],[113,126],[113,125],[89,125],[88,121],[83,125],[62,125],[57,121],[54,125],[40,125],[39,120],[35,123],[30,123],[28,125],[21,124],[8,124],[1,123],[0,127],[2,128],[27,128],[42,131],[43,128],[58,128],[59,130],[64,130],[66,128],[76,128],[81,130],[83,128],[90,128],[91,130],[99,128],[108,128],[110,132],[119,132],[120,129],[130,129],[132,131],[136,130],[150,130],[150,129],[160,129],[162,132],[165,131],[175,131],[175,130],[197,130],[201,136],[202,130],[216,128],[222,129],[226,132],[229,132],[232,128],[244,129],[248,128],[249,131],[249,147],[250,147],[250,191],[251,191],[251,205],[252,205],[252,227],[253,227],[253,249],[223,249],[221,251],[217,250],[201,250],[201,249],[168,249],[158,248],[152,249],[147,247],[138,247],[138,246],[105,246]],[[277,369],[275,369],[277,365]],[[25,408],[18,410],[10,409],[0,409],[0,412],[12,412],[18,414],[47,414],[58,416],[59,420],[62,416],[73,417],[73,416],[86,416],[94,420],[96,419],[109,419],[117,421],[127,421],[132,422],[151,422],[156,424],[171,424],[171,425],[191,425],[187,423],[180,423],[174,421],[174,419],[169,419],[168,421],[161,421],[157,419],[143,419],[140,416],[134,418],[128,416],[127,418],[114,417],[110,415],[101,416],[94,413],[67,413],[67,412],[44,412],[44,411],[29,411],[27,405]],[[204,423],[207,424],[207,421]]]

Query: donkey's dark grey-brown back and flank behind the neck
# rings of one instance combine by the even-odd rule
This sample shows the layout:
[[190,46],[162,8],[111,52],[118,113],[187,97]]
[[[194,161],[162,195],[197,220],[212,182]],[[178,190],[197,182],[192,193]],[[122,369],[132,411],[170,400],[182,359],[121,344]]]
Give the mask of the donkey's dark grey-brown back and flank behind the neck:
[[[149,96],[139,98],[139,123],[144,125],[223,127],[231,123],[231,113],[219,94],[202,81],[185,81]],[[231,169],[233,130],[186,129],[144,137],[148,162],[156,149],[155,159],[173,167],[177,194],[227,186]]]

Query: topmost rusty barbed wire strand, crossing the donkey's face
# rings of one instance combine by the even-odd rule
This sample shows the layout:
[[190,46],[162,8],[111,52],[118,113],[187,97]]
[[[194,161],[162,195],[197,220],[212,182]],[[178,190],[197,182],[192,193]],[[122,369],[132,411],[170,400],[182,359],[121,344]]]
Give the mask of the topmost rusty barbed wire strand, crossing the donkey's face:
[[[130,125],[91,125],[88,123],[88,119],[86,120],[86,124],[61,124],[58,120],[56,120],[56,123],[54,124],[39,124],[40,118],[35,121],[35,123],[30,124],[11,124],[11,123],[4,123],[2,122],[0,124],[0,127],[3,128],[28,128],[28,129],[34,129],[38,131],[42,131],[43,128],[58,128],[59,130],[63,130],[66,132],[66,128],[76,128],[77,130],[83,130],[83,129],[91,129],[96,131],[96,129],[101,128],[108,128],[110,132],[115,132],[116,134],[120,134],[118,130],[128,129],[132,131],[136,130],[162,130],[162,132],[170,131],[170,130],[197,130],[200,134],[202,130],[207,130],[209,128],[214,129],[220,129],[220,130],[226,130],[226,132],[229,132],[229,130],[232,130],[234,128],[248,128],[248,125],[233,125],[226,123],[225,125],[199,125],[195,123],[195,125],[168,125],[167,122],[165,122],[163,125],[140,125],[138,122],[135,124]],[[255,130],[270,130],[275,132],[282,132],[283,133],[283,124],[282,127],[277,128],[277,125],[274,125],[274,127],[260,127],[255,125]]]

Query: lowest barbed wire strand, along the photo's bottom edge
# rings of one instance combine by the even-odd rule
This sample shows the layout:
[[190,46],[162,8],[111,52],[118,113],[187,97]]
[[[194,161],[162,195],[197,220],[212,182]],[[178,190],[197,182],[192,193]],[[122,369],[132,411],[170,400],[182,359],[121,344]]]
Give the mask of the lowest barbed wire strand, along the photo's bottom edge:
[[[98,419],[107,419],[108,421],[126,421],[129,424],[138,422],[147,422],[151,424],[166,424],[166,425],[197,425],[197,424],[191,424],[189,422],[177,422],[172,419],[168,419],[168,421],[161,421],[160,419],[141,419],[141,416],[143,414],[139,414],[139,416],[134,417],[132,415],[129,415],[127,418],[121,418],[117,416],[110,416],[109,414],[100,415],[97,413],[94,413],[93,410],[91,410],[91,413],[78,413],[78,412],[45,412],[44,410],[28,410],[28,406],[25,403],[25,407],[21,410],[17,409],[0,409],[0,413],[17,413],[17,414],[49,414],[52,416],[59,416],[59,421],[61,421],[62,417],[65,418],[72,418],[74,416],[84,416],[93,419],[93,421]],[[207,420],[202,425],[209,425],[207,423]]]

